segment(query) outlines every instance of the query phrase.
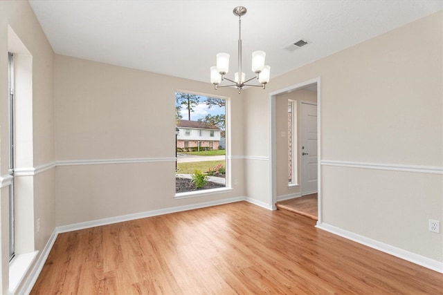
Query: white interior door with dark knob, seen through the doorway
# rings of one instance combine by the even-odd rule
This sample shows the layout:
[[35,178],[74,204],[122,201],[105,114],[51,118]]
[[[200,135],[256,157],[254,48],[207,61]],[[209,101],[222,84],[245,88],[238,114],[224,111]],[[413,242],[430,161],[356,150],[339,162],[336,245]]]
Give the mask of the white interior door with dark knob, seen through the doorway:
[[300,178],[302,196],[317,192],[317,105],[300,104]]

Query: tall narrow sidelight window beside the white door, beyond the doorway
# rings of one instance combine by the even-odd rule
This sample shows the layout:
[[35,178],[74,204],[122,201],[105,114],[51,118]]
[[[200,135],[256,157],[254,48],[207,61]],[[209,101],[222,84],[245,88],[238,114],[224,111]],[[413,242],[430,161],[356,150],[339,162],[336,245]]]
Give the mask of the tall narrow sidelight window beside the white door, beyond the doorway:
[[297,177],[297,104],[288,100],[288,180],[289,185],[298,182]]

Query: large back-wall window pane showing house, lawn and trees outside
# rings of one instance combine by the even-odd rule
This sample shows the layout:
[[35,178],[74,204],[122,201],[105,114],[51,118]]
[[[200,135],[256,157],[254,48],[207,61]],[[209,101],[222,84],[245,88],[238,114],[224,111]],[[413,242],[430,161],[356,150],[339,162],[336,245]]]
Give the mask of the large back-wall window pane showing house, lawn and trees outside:
[[175,94],[176,193],[226,187],[226,100]]

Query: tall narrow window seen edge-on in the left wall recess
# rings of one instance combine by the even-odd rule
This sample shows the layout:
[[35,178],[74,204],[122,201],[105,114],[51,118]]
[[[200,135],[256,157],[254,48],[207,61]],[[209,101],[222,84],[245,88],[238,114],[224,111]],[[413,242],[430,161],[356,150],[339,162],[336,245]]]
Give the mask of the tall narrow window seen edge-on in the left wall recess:
[[8,59],[8,84],[9,84],[9,165],[8,173],[12,176],[9,187],[9,260],[15,256],[15,111],[14,111],[14,55],[9,53]]

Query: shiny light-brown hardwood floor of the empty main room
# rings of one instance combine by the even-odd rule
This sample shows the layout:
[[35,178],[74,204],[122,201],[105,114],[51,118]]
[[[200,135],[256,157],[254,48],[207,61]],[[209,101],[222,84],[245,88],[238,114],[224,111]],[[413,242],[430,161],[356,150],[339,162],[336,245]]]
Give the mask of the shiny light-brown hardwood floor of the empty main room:
[[57,236],[30,294],[442,294],[443,275],[248,202]]

